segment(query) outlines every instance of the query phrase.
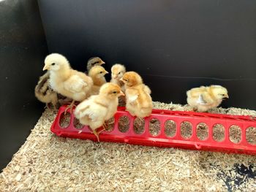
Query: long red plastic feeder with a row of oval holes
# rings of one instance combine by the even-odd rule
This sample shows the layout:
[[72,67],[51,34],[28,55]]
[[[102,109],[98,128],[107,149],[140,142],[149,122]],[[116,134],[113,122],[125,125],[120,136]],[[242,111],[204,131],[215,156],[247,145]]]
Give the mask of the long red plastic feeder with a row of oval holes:
[[[58,115],[53,122],[50,130],[61,137],[72,137],[78,139],[91,139],[97,141],[94,134],[88,126],[83,128],[75,128],[74,126],[74,114],[70,114],[69,126],[62,128],[60,126],[61,115],[64,113],[66,106],[62,106],[59,109]],[[69,112],[69,111],[68,111]],[[118,129],[118,120],[122,116],[129,118],[129,129],[123,133]],[[211,150],[221,151],[226,153],[246,153],[250,155],[256,154],[256,144],[249,143],[246,139],[247,131],[249,128],[256,129],[256,118],[250,116],[241,115],[220,115],[211,113],[200,113],[200,112],[181,112],[181,111],[170,111],[170,110],[153,110],[150,117],[145,118],[145,128],[142,134],[135,133],[133,123],[135,118],[129,115],[129,112],[125,111],[124,107],[118,107],[118,112],[114,116],[115,123],[112,131],[102,131],[99,134],[99,140],[101,142],[125,142],[135,145],[148,145],[157,147],[180,147],[189,150]],[[152,118],[157,118],[160,123],[160,130],[157,136],[151,135],[149,130],[149,124]],[[176,133],[173,137],[168,137],[165,134],[165,123],[167,120],[172,120],[176,123]],[[182,123],[191,123],[191,134],[189,138],[182,135]],[[202,139],[197,135],[197,127],[200,123],[205,123],[208,127],[208,134],[206,138]],[[222,125],[224,127],[222,141],[217,141],[214,138],[214,126]],[[240,128],[240,139],[234,142],[230,139],[230,128],[236,126]],[[248,130],[247,130],[248,129]],[[238,135],[238,136],[239,136]],[[255,134],[250,137],[256,140]]]

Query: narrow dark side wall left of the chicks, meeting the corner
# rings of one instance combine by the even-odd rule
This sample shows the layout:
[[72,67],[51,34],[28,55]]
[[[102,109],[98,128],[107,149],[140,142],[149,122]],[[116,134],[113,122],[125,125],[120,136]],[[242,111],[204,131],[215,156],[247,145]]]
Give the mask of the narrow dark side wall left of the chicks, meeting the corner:
[[48,50],[37,1],[0,1],[0,18],[1,170],[42,114],[34,86]]

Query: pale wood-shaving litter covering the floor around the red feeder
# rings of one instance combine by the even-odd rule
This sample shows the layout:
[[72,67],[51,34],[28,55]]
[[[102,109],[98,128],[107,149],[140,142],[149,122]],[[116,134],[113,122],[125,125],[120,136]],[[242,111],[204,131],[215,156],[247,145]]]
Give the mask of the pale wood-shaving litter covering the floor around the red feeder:
[[[192,110],[187,105],[154,102],[154,108]],[[214,109],[213,113],[253,115],[252,110]],[[56,112],[46,110],[10,164],[0,174],[0,191],[255,191],[253,155],[211,153],[65,139],[50,132]],[[118,122],[127,129],[127,120]],[[151,134],[157,120],[152,120]],[[78,128],[80,128],[79,122]],[[110,122],[111,124],[111,122]],[[113,123],[112,123],[113,124]],[[138,125],[143,124],[138,120]],[[184,123],[184,137],[189,137]],[[217,126],[217,128],[219,128]],[[139,133],[140,128],[135,128]],[[198,125],[200,138],[207,126]],[[174,131],[173,131],[174,130]],[[172,136],[176,124],[165,123]],[[221,139],[221,128],[215,139]],[[236,136],[237,128],[231,131]],[[248,136],[255,141],[255,132]],[[233,141],[238,139],[233,137]]]

